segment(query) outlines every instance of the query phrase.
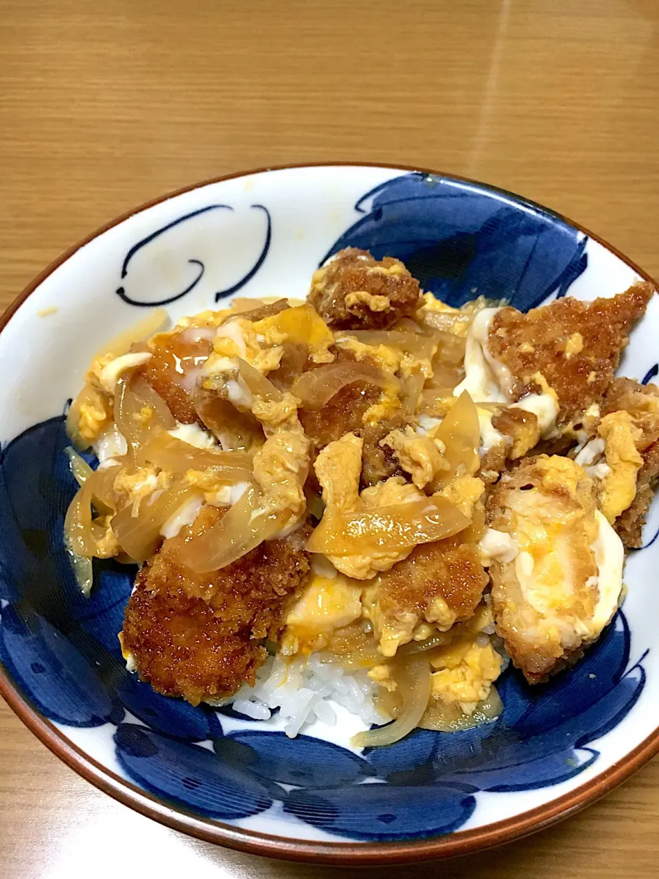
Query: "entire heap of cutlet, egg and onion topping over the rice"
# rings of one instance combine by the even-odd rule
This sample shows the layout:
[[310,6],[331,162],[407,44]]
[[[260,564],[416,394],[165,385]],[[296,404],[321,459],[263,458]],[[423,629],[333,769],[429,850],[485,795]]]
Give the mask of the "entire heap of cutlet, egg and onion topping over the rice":
[[394,741],[501,709],[611,621],[659,473],[659,391],[614,370],[653,294],[453,309],[341,251],[307,301],[154,312],[69,411],[76,576],[139,563],[119,638],[159,693],[317,653],[378,685]]

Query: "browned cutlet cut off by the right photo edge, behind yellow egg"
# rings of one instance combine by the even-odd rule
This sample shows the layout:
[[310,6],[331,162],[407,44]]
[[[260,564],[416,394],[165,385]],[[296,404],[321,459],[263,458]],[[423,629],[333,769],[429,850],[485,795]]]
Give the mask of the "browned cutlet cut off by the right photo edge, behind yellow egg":
[[634,379],[616,379],[606,392],[601,414],[604,417],[619,410],[629,412],[634,424],[641,428],[642,438],[636,447],[643,465],[636,476],[634,501],[620,513],[613,527],[625,546],[639,548],[645,515],[659,477],[659,387],[642,385]]

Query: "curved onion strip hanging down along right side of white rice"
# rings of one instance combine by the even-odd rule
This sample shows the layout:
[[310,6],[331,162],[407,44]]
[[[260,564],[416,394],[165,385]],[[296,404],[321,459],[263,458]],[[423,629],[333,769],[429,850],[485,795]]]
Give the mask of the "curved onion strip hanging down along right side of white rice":
[[367,732],[358,732],[351,744],[358,748],[393,745],[418,726],[431,697],[431,666],[423,656],[409,657],[396,664],[395,680],[402,696],[402,708],[394,723]]

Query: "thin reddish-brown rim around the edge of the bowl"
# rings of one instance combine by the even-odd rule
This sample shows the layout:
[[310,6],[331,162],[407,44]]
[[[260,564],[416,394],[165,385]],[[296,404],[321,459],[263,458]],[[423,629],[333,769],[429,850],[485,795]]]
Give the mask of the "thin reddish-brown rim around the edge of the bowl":
[[[222,183],[226,180],[234,178],[249,177],[256,174],[267,173],[269,171],[289,171],[302,168],[381,168],[391,171],[402,171],[404,173],[420,172],[455,180],[459,183],[469,185],[477,185],[482,189],[506,195],[515,202],[527,205],[540,210],[545,214],[554,216],[557,220],[567,223],[573,229],[577,229],[593,241],[601,244],[606,250],[611,251],[622,262],[628,265],[643,280],[648,281],[654,287],[657,287],[656,281],[644,272],[639,265],[636,265],[631,259],[627,258],[612,244],[590,232],[589,229],[583,227],[580,223],[570,220],[564,214],[559,214],[552,208],[545,207],[539,202],[526,199],[517,193],[500,186],[483,183],[480,180],[472,178],[460,177],[455,174],[448,174],[444,171],[436,171],[428,168],[419,168],[416,166],[403,165],[397,163],[373,163],[373,162],[311,162],[311,163],[287,163],[278,165],[269,165],[263,168],[256,168],[247,171],[235,171],[230,174],[224,174],[221,177],[211,178],[207,180],[186,185],[173,192],[166,193],[155,199],[148,200],[139,207],[127,210],[123,214],[115,217],[110,222],[106,222],[99,229],[92,232],[88,236],[84,236],[81,240],[73,244],[61,256],[55,258],[50,265],[47,265],[26,287],[18,294],[16,299],[11,302],[7,309],[4,310],[0,317],[0,332],[4,330],[9,323],[11,316],[15,314],[18,308],[25,300],[33,294],[34,290],[43,283],[47,277],[52,274],[62,263],[71,258],[76,251],[79,251],[85,244],[102,235],[109,229],[125,222],[134,214],[140,214],[141,211],[148,207],[155,207],[165,201],[173,199],[178,195],[190,193],[196,189],[201,189],[206,185],[214,183]],[[156,798],[155,795],[148,794],[146,791],[138,788],[131,781],[121,778],[112,770],[102,766],[97,760],[92,759],[83,752],[81,748],[74,745],[65,737],[62,730],[54,725],[47,718],[40,716],[36,708],[28,704],[23,696],[18,692],[18,687],[13,684],[4,667],[0,665],[0,695],[15,712],[18,718],[25,723],[25,726],[40,739],[57,757],[62,759],[71,769],[81,775],[86,781],[90,781],[94,787],[103,791],[105,794],[112,796],[113,799],[127,805],[129,808],[140,812],[142,815],[152,818],[160,824],[166,825],[173,830],[184,832],[197,839],[203,839],[206,842],[212,842],[215,845],[226,846],[246,854],[258,854],[265,857],[278,858],[286,861],[307,861],[316,863],[325,863],[344,866],[376,866],[396,863],[410,863],[412,861],[431,861],[438,860],[454,855],[474,854],[493,846],[500,846],[504,843],[512,842],[515,839],[521,839],[531,833],[544,830],[545,828],[556,824],[563,818],[574,815],[577,811],[584,809],[591,803],[596,802],[600,797],[609,793],[623,781],[626,781],[632,774],[641,768],[649,759],[659,753],[659,726],[652,732],[640,745],[634,750],[626,753],[621,759],[609,766],[601,774],[595,778],[580,785],[567,794],[564,794],[549,803],[544,803],[532,810],[527,810],[517,816],[506,818],[503,821],[497,821],[489,825],[474,828],[473,830],[457,831],[448,833],[445,836],[431,837],[426,839],[402,840],[400,842],[378,842],[378,843],[354,843],[354,842],[315,842],[313,840],[289,839],[286,837],[275,836],[268,833],[255,832],[238,828],[233,825],[225,824],[221,821],[214,821],[209,818],[197,817],[185,810],[182,806],[168,805],[162,800]]]

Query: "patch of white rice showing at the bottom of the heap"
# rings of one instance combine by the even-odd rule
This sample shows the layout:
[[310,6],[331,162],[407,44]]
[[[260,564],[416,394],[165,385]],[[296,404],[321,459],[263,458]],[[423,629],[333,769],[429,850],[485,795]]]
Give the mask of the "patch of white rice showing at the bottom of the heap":
[[366,672],[347,673],[337,662],[323,662],[318,654],[308,657],[271,657],[257,672],[255,686],[242,686],[224,705],[253,720],[269,720],[274,708],[284,720],[286,736],[294,738],[302,727],[319,720],[337,723],[332,703],[358,716],[368,728],[387,723],[373,701],[377,684]]

